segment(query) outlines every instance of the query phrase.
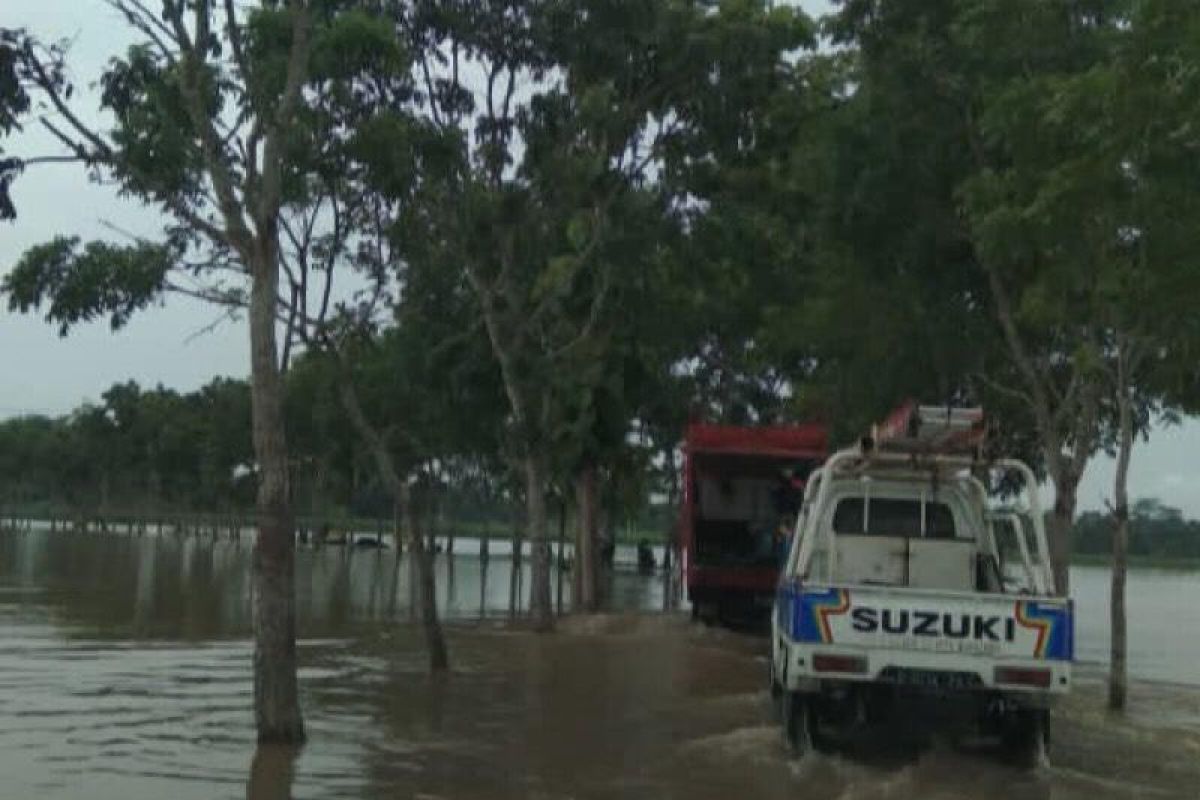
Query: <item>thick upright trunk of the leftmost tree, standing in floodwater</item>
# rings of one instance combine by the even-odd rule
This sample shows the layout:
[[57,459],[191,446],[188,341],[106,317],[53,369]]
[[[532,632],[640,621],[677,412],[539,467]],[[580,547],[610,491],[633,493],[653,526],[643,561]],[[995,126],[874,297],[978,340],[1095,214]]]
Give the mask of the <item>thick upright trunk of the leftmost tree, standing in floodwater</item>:
[[304,741],[296,685],[295,540],[288,493],[283,384],[275,344],[278,259],[274,242],[253,265],[250,296],[251,410],[258,462],[254,542],[254,720],[260,742]]

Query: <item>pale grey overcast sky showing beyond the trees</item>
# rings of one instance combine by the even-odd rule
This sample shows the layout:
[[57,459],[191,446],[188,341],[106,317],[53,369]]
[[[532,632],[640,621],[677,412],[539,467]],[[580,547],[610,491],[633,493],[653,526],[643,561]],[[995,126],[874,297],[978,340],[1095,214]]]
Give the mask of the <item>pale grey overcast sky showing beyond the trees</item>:
[[[0,0],[6,26],[24,26],[44,38],[70,38],[71,66],[83,89],[104,61],[128,43],[128,32],[102,0]],[[823,0],[802,1],[810,12]],[[97,102],[85,94],[77,103],[95,119]],[[46,155],[53,142],[30,131],[6,143],[23,156]],[[116,230],[152,235],[156,211],[122,200],[107,187],[89,184],[72,166],[43,167],[22,176],[13,192],[19,218],[0,223],[0,273],[7,272],[30,245],[55,235],[120,239]],[[245,377],[248,343],[242,323],[209,330],[216,312],[200,303],[170,299],[163,307],[137,314],[113,333],[106,323],[80,326],[67,338],[37,317],[0,309],[0,417],[62,414],[84,399],[96,399],[112,384],[137,380],[192,390],[216,375]],[[1157,497],[1200,517],[1200,423],[1158,431],[1134,452],[1129,483],[1133,497]],[[1098,459],[1080,491],[1081,509],[1096,509],[1110,497],[1112,462]]]

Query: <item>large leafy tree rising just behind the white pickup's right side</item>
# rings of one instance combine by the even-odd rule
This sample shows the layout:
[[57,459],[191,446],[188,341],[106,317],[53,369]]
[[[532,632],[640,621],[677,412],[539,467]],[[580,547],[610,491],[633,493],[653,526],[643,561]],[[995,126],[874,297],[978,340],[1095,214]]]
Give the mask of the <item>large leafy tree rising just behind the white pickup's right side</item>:
[[[854,0],[830,23],[836,41],[856,46],[850,104],[870,126],[860,130],[874,130],[865,136],[875,146],[887,143],[884,170],[914,179],[877,188],[899,213],[875,239],[917,245],[905,273],[936,302],[922,324],[953,320],[938,332],[953,356],[946,396],[984,399],[1004,428],[1036,433],[1033,455],[1055,485],[1060,593],[1079,481],[1104,440],[1097,259],[1115,254],[1115,217],[1102,206],[1111,206],[1120,180],[1103,172],[1090,131],[1063,124],[1075,113],[1072,98],[1085,95],[1062,89],[1093,79],[1111,55],[1120,7]],[[1073,203],[1098,213],[1080,215]],[[892,303],[920,303],[917,296],[911,289]],[[938,313],[947,301],[953,313]]]

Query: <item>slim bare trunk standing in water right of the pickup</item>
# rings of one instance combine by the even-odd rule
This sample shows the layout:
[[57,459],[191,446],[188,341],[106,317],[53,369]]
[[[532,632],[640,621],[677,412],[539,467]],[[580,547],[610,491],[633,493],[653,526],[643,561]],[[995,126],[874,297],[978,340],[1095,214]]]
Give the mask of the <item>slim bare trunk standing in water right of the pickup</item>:
[[1109,708],[1123,711],[1126,706],[1126,561],[1129,549],[1129,458],[1133,455],[1133,398],[1124,375],[1124,356],[1117,354],[1117,470],[1112,480],[1112,599],[1111,655],[1109,662]]

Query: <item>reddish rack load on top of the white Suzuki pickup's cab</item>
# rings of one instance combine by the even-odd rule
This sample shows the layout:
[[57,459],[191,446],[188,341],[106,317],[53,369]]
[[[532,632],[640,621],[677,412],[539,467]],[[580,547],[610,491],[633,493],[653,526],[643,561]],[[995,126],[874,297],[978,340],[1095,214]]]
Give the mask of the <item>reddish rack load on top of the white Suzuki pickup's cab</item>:
[[919,405],[908,401],[871,426],[864,453],[912,453],[979,458],[986,429],[982,408]]

